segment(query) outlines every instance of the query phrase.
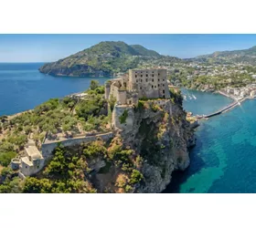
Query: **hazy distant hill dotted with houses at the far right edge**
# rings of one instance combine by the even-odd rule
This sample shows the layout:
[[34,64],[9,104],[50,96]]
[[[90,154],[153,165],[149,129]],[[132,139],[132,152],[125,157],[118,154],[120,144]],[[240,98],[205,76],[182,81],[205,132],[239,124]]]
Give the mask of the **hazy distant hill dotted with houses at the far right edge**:
[[196,59],[209,62],[248,63],[256,65],[256,46],[244,50],[217,51],[213,54],[199,56]]

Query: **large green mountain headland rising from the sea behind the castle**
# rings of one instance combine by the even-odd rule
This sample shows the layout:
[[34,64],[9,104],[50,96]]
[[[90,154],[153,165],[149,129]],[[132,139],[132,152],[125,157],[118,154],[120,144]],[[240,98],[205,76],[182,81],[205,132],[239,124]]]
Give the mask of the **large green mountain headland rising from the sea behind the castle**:
[[57,76],[109,76],[161,57],[157,52],[140,45],[129,46],[121,41],[106,41],[57,62],[45,64],[39,71]]

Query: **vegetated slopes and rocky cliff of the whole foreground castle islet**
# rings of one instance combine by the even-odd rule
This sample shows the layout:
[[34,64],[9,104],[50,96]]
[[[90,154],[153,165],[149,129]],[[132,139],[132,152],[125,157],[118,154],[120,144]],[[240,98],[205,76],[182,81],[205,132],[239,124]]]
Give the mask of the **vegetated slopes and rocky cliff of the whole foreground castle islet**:
[[[59,137],[107,129],[111,115],[102,113],[103,92],[91,81],[83,100],[53,98],[11,119],[2,117],[0,154],[5,156],[0,157],[0,192],[162,192],[173,171],[187,168],[187,147],[194,143],[194,134],[182,109],[181,94],[171,90],[171,98],[163,99],[162,105],[160,98],[143,99],[131,107],[132,129],[117,130],[108,141],[98,138],[69,147],[60,142],[42,171],[19,179],[8,164],[22,153],[31,133],[39,148],[46,132]],[[121,123],[125,124],[129,113],[123,112]]]

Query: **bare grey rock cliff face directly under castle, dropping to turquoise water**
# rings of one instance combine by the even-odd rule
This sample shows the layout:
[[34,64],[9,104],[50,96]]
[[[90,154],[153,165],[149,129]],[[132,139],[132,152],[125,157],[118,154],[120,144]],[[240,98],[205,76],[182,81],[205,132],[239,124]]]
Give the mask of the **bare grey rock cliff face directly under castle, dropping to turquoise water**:
[[114,110],[113,120],[115,127],[122,130],[123,146],[142,158],[140,171],[144,179],[134,192],[162,192],[172,172],[185,170],[190,162],[187,148],[195,144],[195,138],[186,113],[171,100],[140,101],[138,108],[126,110],[125,123],[118,124],[120,110]]

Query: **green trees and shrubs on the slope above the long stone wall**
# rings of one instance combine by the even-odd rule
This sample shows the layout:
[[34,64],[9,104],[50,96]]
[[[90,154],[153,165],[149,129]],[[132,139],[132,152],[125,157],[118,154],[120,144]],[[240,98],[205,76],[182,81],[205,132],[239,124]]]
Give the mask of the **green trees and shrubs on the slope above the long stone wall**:
[[0,165],[6,167],[11,159],[24,150],[28,139],[37,147],[48,137],[72,137],[91,131],[106,131],[109,121],[104,88],[91,81],[85,99],[51,98],[35,109],[15,116],[0,117]]

